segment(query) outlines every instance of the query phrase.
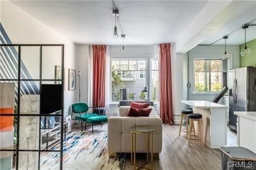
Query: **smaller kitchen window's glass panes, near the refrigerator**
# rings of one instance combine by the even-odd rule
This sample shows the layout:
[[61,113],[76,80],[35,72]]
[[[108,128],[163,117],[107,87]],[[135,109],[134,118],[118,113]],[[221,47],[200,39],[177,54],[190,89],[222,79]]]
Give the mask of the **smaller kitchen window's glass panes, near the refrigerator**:
[[222,59],[194,60],[194,92],[218,92],[222,88]]

